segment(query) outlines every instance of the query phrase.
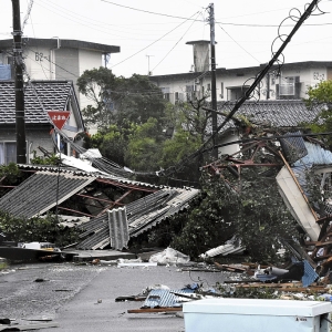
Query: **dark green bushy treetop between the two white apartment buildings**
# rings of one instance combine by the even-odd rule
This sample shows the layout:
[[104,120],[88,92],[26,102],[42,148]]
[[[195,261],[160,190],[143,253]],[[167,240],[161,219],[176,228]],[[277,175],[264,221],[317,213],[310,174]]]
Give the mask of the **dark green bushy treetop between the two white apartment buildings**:
[[92,104],[83,111],[87,124],[105,128],[124,121],[142,124],[149,117],[163,123],[166,101],[159,87],[148,76],[133,74],[132,77],[115,76],[101,66],[84,71],[77,80],[79,91]]

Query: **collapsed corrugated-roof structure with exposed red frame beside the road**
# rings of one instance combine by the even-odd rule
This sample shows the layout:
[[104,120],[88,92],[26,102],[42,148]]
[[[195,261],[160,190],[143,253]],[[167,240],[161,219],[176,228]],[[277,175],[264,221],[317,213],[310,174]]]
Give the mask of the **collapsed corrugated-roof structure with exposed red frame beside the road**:
[[199,193],[132,180],[131,172],[69,142],[82,158],[59,155],[61,167],[19,165],[29,176],[0,198],[0,210],[25,219],[56,214],[63,225],[84,230],[77,249],[122,250]]

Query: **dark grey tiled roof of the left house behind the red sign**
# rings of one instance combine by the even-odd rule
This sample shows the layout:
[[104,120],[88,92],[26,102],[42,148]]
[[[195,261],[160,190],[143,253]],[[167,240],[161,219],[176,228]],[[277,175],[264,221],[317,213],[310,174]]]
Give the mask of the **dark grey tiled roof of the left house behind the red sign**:
[[[32,81],[24,86],[25,124],[50,124],[46,111],[66,111],[72,101],[77,127],[83,120],[72,81]],[[15,92],[13,81],[0,81],[0,125],[15,124]]]

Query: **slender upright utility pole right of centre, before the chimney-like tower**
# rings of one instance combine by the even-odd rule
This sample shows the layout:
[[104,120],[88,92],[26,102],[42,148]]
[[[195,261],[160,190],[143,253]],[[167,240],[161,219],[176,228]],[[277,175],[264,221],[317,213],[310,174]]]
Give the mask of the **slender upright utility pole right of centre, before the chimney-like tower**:
[[[216,50],[215,50],[215,6],[214,3],[209,4],[210,9],[210,49],[211,49],[211,108],[217,111],[217,87],[216,87]],[[212,112],[212,136],[214,136],[214,146],[217,145],[217,113]],[[212,149],[212,157],[218,159],[218,148]]]

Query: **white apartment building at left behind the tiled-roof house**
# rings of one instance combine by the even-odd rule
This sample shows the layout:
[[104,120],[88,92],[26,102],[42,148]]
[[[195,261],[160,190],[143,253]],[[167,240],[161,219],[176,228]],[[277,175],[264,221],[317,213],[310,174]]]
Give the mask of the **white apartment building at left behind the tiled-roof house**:
[[[0,80],[13,79],[12,48],[12,39],[0,40]],[[25,70],[31,80],[73,81],[83,110],[91,102],[79,93],[77,79],[85,70],[105,65],[112,53],[120,52],[120,46],[59,38],[22,38],[22,50]]]

